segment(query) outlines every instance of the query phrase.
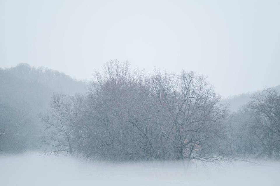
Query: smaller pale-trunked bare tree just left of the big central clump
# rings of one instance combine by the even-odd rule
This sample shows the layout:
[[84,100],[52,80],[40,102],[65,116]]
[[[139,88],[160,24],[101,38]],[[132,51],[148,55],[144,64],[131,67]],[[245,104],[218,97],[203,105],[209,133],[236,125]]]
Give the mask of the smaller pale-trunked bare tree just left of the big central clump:
[[74,156],[74,132],[81,121],[79,117],[83,99],[81,96],[68,97],[62,93],[54,93],[50,103],[50,110],[46,115],[39,115],[45,124],[46,135],[42,145],[50,148],[46,154],[69,153]]

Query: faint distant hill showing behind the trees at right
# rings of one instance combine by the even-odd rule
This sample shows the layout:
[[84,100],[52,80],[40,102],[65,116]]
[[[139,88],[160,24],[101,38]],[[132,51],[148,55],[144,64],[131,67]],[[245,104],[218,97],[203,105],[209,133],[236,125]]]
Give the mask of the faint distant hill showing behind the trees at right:
[[[280,85],[276,86],[276,87],[271,87],[274,88],[278,91],[280,91]],[[239,94],[236,96],[231,96],[230,98],[227,99],[223,99],[222,103],[229,104],[229,109],[232,112],[235,112],[238,110],[238,108],[240,108],[242,105],[245,105],[246,103],[248,103],[251,99],[251,97],[253,96],[253,94],[259,93],[260,91],[257,92],[253,92],[253,93],[243,93],[243,94]]]

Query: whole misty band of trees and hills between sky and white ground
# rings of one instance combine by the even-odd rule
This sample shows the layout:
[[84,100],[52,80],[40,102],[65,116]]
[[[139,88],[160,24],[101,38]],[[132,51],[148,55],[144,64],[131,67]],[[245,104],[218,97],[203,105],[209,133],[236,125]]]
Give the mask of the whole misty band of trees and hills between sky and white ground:
[[146,74],[114,60],[85,82],[20,64],[0,69],[0,153],[40,150],[112,161],[279,159],[279,90],[221,99],[192,71]]

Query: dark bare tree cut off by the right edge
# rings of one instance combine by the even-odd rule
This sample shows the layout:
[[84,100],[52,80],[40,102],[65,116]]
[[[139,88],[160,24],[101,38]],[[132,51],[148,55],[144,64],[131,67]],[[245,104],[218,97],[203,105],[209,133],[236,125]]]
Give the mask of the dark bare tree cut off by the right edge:
[[248,108],[254,114],[252,133],[259,143],[258,154],[280,158],[280,94],[266,89],[253,96]]

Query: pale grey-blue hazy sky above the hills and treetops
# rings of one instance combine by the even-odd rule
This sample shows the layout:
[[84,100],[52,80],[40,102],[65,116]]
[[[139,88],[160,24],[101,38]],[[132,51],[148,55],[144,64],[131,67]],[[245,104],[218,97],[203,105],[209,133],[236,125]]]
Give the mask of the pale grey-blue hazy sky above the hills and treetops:
[[223,97],[280,85],[280,1],[0,0],[0,67],[193,70]]

